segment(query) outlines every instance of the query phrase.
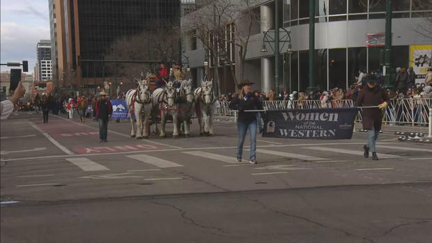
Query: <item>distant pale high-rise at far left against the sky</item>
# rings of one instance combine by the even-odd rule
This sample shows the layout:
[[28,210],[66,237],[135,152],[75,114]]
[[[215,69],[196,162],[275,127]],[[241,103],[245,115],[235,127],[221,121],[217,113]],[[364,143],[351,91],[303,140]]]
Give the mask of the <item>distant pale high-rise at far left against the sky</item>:
[[40,40],[36,46],[39,81],[52,79],[51,40]]

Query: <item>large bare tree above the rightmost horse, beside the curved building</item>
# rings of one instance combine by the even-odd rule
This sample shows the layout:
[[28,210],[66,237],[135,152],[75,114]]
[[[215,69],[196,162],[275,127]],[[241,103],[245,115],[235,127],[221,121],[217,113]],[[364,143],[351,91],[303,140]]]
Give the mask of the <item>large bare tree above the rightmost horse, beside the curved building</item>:
[[[215,68],[215,80],[219,80],[219,67],[229,65],[231,75],[236,86],[238,79],[244,75],[247,45],[252,35],[254,24],[259,20],[251,6],[256,0],[209,0],[206,7],[188,15],[184,20],[184,30],[192,38],[198,38],[206,49],[210,51],[210,63]],[[240,77],[236,75],[236,60],[231,58],[232,50],[228,46],[235,46],[238,50]],[[218,93],[221,92],[221,82],[217,82]]]

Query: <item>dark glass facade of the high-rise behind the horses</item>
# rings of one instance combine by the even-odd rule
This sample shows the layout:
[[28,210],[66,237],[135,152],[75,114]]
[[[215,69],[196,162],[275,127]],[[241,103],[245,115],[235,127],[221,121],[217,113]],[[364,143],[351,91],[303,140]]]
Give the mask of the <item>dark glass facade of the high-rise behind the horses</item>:
[[[71,11],[71,14],[78,15],[79,19],[81,60],[102,60],[107,56],[122,60],[178,59],[178,45],[164,49],[160,44],[168,38],[180,38],[180,1],[79,0],[77,8],[78,13]],[[72,27],[72,36],[75,36],[74,29]],[[130,49],[130,46],[137,46],[136,42],[141,42],[141,47]],[[130,53],[126,53],[128,49]],[[75,49],[72,52],[75,56]],[[102,63],[83,62],[83,77],[106,76],[108,67],[104,70],[102,66]]]

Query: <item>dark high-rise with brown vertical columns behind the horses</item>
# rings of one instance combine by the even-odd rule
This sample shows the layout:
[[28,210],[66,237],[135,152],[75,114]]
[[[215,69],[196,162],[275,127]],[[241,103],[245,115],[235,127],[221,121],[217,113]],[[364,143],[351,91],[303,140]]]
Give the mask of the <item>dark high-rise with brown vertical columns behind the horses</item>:
[[69,89],[128,83],[133,63],[178,59],[178,41],[164,45],[180,38],[179,0],[50,0],[49,9],[54,74]]

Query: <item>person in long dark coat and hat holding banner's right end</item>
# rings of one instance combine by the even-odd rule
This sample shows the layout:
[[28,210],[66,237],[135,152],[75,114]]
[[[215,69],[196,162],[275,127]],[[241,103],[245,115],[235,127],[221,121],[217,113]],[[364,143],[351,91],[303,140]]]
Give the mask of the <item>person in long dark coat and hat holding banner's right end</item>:
[[374,75],[369,75],[367,86],[364,86],[360,95],[357,97],[355,105],[357,107],[375,107],[362,109],[363,129],[367,130],[368,142],[363,146],[364,157],[369,157],[369,151],[372,152],[372,159],[378,160],[376,155],[375,144],[380,134],[381,123],[383,123],[383,111],[390,103],[389,96],[383,88],[378,86],[378,79]]

